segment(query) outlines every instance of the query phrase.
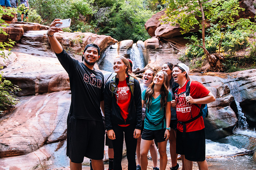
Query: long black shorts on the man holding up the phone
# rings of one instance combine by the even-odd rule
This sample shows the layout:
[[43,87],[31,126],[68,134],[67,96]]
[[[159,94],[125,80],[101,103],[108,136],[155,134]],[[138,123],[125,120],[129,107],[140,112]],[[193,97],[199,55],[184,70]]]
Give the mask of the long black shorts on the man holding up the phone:
[[67,156],[74,163],[82,163],[84,157],[100,160],[104,157],[103,122],[79,119],[68,114]]

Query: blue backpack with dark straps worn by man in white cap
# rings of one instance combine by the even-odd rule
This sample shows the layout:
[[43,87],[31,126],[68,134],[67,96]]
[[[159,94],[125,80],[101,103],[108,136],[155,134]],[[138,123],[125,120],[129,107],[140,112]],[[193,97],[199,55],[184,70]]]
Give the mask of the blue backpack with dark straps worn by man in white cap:
[[[191,81],[188,81],[187,83],[187,86],[186,86],[186,91],[178,94],[178,96],[186,93],[186,96],[189,96],[190,94],[190,84],[191,84]],[[178,88],[175,90],[174,94],[177,95],[176,93],[178,92]],[[194,103],[193,103],[194,104]],[[197,108],[200,109],[198,115],[196,117],[192,117],[192,113],[190,111],[190,115],[191,115],[191,119],[189,119],[188,121],[185,121],[185,122],[180,122],[178,121],[180,124],[183,125],[183,137],[186,137],[185,133],[186,133],[186,124],[187,123],[190,123],[190,122],[193,122],[194,120],[198,119],[199,117],[208,117],[208,107],[207,107],[207,104],[201,104],[201,107],[199,107],[197,104],[194,104]]]

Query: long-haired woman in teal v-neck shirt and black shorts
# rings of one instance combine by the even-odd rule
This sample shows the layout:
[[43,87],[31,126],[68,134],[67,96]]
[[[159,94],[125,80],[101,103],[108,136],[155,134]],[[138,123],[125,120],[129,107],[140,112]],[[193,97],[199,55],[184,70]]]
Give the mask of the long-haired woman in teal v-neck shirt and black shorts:
[[148,166],[148,149],[153,139],[158,143],[160,170],[167,165],[166,144],[169,138],[172,95],[168,91],[168,75],[158,71],[153,82],[142,92],[142,107],[146,104],[144,130],[140,143],[140,165],[142,170]]

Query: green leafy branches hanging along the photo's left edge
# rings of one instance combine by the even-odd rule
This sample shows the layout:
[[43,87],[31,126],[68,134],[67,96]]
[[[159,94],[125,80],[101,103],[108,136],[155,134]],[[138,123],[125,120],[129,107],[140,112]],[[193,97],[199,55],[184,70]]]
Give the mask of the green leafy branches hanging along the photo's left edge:
[[[12,11],[14,9],[3,9],[2,6],[0,6],[0,26],[6,27],[8,26],[7,23],[2,19],[3,15],[12,16]],[[4,32],[3,28],[0,28],[0,34],[8,35],[6,32]],[[3,59],[6,59],[8,55],[10,55],[11,48],[8,49],[7,56],[4,53],[4,50],[8,47],[12,47],[14,45],[14,41],[11,39],[8,39],[7,42],[0,42],[0,57]],[[3,67],[0,66],[0,69]],[[0,72],[0,114],[3,112],[4,109],[6,109],[6,106],[12,106],[15,105],[18,100],[15,99],[15,97],[11,94],[11,92],[19,91],[20,89],[18,86],[13,85],[11,81],[5,80],[3,78],[3,72]]]

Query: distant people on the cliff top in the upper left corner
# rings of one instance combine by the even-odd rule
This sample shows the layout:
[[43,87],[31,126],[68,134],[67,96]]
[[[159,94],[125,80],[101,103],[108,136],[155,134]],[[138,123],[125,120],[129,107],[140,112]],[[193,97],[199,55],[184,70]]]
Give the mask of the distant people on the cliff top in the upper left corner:
[[[21,22],[23,22],[24,14],[26,19],[28,20],[28,9],[29,9],[29,4],[28,0],[20,0],[20,4],[24,4],[25,8],[22,9],[21,13]],[[18,0],[0,0],[0,5],[5,9],[5,6],[7,8],[17,8],[18,7]]]

